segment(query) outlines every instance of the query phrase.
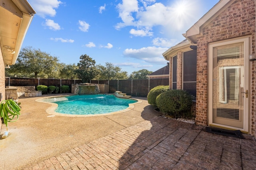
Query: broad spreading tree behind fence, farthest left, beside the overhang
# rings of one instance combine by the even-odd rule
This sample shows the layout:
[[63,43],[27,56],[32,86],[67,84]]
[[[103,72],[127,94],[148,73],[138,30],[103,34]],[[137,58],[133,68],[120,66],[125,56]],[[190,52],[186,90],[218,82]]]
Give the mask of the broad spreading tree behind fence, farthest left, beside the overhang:
[[7,76],[55,78],[58,76],[58,58],[52,57],[40,49],[24,47],[20,51],[16,64],[6,70]]

